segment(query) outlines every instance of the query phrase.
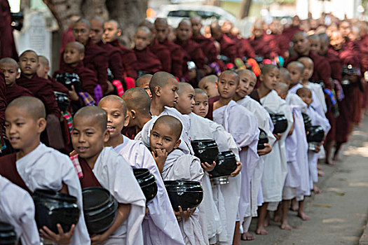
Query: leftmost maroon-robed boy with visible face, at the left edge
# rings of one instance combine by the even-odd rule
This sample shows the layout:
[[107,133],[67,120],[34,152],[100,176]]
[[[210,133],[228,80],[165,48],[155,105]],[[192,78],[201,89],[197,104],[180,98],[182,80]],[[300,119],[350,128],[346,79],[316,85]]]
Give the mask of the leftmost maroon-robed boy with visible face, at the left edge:
[[6,83],[6,103],[9,104],[18,97],[33,96],[32,92],[27,88],[22,87],[15,83],[15,80],[19,78],[20,72],[18,71],[18,63],[12,58],[0,59],[0,70],[3,71]]

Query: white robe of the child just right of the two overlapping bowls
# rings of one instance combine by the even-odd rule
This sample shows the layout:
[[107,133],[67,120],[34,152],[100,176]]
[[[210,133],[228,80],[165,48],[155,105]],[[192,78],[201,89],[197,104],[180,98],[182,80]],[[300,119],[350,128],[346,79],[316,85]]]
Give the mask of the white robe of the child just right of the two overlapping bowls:
[[[238,148],[249,147],[247,150],[240,151],[240,162],[243,163],[243,168],[238,214],[240,223],[243,223],[247,210],[250,210],[250,181],[259,162],[257,118],[245,107],[231,100],[226,106],[213,111],[213,120],[224,126],[225,130],[233,136]],[[243,226],[240,226],[240,232],[243,232]]]

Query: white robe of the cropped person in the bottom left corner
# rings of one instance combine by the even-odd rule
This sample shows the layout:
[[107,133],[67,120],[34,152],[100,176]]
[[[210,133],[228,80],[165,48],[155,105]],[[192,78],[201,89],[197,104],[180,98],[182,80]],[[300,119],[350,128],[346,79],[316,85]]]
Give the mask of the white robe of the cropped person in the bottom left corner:
[[[14,226],[18,241],[39,245],[32,197],[19,186],[0,176],[0,221]],[[18,242],[17,242],[18,244]]]

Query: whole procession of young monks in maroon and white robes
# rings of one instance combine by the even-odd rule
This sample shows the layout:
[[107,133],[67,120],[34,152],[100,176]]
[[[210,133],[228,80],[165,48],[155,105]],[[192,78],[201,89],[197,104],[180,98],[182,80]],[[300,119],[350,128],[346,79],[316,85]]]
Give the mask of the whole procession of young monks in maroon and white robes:
[[[290,200],[294,200],[292,207],[298,216],[308,220],[303,209],[304,197],[311,195],[311,190],[320,192],[315,186],[318,158],[325,159],[329,165],[338,160],[341,146],[348,141],[353,126],[360,123],[367,107],[367,23],[338,20],[332,15],[318,20],[299,20],[295,16],[292,24],[285,27],[278,20],[269,25],[257,20],[252,36],[244,38],[229,21],[222,26],[214,21],[204,28],[201,22],[198,16],[184,19],[172,30],[164,18],[154,23],[144,21],[137,27],[131,49],[121,43],[122,30],[115,20],[79,18],[62,35],[60,66],[52,76],[48,59],[33,50],[26,50],[16,58],[1,56],[0,154],[3,157],[0,160],[16,162],[16,167],[15,174],[9,174],[4,166],[13,165],[1,166],[0,162],[0,178],[5,176],[32,194],[36,187],[53,183],[43,185],[34,183],[34,179],[26,180],[22,171],[31,165],[21,171],[18,162],[22,158],[23,162],[25,158],[32,161],[31,153],[36,150],[49,154],[57,162],[60,153],[50,149],[67,155],[74,150],[79,157],[72,154],[71,161],[82,188],[96,184],[112,193],[130,186],[118,181],[109,183],[110,176],[96,167],[97,163],[101,168],[106,167],[109,158],[119,161],[109,148],[102,150],[104,146],[112,146],[131,167],[149,166],[154,169],[156,179],[162,177],[161,182],[181,178],[200,181],[207,195],[197,210],[172,212],[172,216],[163,218],[170,210],[170,205],[168,208],[162,204],[168,200],[163,183],[159,186],[163,188],[163,199],[151,203],[148,214],[142,208],[146,207],[142,204],[142,193],[132,194],[135,200],[129,200],[126,193],[118,191],[116,199],[121,204],[122,216],[117,219],[121,223],[116,223],[115,230],[88,237],[86,225],[79,223],[75,232],[73,228],[62,232],[62,236],[41,229],[43,237],[72,244],[88,244],[90,240],[104,244],[122,241],[126,244],[239,244],[240,239],[254,239],[248,232],[252,216],[259,216],[256,233],[267,234],[268,211],[276,211],[275,220],[281,221],[282,229],[290,230],[287,223]],[[22,124],[28,125],[27,118],[25,122],[19,119],[22,113],[29,114],[36,122],[31,125],[35,131],[28,141],[27,137],[22,138],[22,130],[20,139],[11,137],[11,125],[20,128]],[[287,132],[273,133],[268,113],[285,116]],[[301,113],[308,114],[313,124],[325,130],[325,139],[317,150],[308,151]],[[155,116],[163,118],[158,120]],[[114,117],[124,120],[114,125],[111,119]],[[258,128],[268,135],[270,143],[265,144],[266,150],[257,151]],[[90,129],[96,132],[91,134],[100,137],[96,138],[100,140],[96,147],[92,147],[97,142],[92,138],[86,140],[90,146],[81,144],[81,135]],[[106,132],[111,139],[104,136]],[[27,136],[27,132],[23,133]],[[224,151],[233,151],[238,160],[228,186],[211,186],[206,173],[214,166],[193,157],[190,141],[208,135],[217,141],[219,148],[223,144]],[[165,144],[158,141],[160,137]],[[135,144],[132,139],[142,141],[152,153],[144,153],[148,150],[142,150],[140,145],[136,148],[127,145],[127,142]],[[139,155],[140,162],[134,162],[132,155],[137,154],[149,157]],[[47,162],[45,158],[35,159],[39,165],[35,165],[34,171],[41,169],[41,162]],[[180,162],[187,163],[189,170]],[[280,163],[280,168],[274,162]],[[116,167],[112,171],[123,169]],[[83,186],[83,174],[93,175],[97,183]],[[57,174],[53,176],[59,178]],[[67,179],[63,178],[59,178],[55,190],[62,190],[66,184],[69,193],[74,192],[80,201],[80,186],[72,188],[78,184],[66,183]],[[137,190],[137,185],[130,187]],[[123,204],[130,204],[130,208]],[[166,227],[161,223],[163,220],[172,227]],[[139,228],[135,226],[137,223]],[[154,232],[153,227],[159,232]],[[22,243],[32,244],[32,240],[37,240],[27,236],[19,236]]]

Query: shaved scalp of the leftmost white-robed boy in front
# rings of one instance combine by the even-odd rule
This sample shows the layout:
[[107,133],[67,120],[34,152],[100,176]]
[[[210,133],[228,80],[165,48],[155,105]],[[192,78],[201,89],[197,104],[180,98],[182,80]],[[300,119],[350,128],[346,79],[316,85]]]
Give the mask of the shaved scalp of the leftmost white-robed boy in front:
[[11,109],[14,107],[18,109],[25,109],[26,113],[34,120],[39,120],[39,118],[46,119],[45,105],[43,105],[41,100],[37,99],[36,97],[18,97],[17,99],[14,99],[13,102],[8,104],[6,111],[11,111]]

